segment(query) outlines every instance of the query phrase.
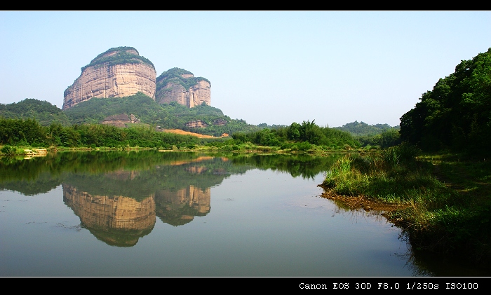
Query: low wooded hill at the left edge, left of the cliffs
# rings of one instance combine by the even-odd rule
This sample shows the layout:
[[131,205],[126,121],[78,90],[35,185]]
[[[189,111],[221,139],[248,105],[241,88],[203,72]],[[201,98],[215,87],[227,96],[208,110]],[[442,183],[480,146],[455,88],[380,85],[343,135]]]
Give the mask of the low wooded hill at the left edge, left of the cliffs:
[[36,119],[39,125],[48,126],[51,123],[70,125],[69,118],[55,105],[34,98],[26,98],[21,102],[0,104],[0,117],[14,119]]

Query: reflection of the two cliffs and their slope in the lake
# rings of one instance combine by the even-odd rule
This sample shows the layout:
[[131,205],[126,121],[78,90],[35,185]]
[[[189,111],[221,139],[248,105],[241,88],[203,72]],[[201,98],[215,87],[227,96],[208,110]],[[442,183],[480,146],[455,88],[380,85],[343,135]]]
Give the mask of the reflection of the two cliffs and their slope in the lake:
[[69,173],[62,181],[63,201],[97,239],[133,246],[152,231],[156,217],[182,226],[208,214],[210,187],[228,177],[230,165],[227,158],[201,156],[143,170]]

